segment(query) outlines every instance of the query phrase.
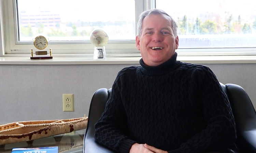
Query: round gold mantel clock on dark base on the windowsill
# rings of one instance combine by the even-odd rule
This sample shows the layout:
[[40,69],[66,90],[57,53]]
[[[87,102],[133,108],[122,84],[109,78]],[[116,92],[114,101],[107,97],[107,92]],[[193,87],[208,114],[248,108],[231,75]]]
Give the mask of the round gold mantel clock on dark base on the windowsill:
[[[43,50],[48,46],[48,38],[43,35],[38,35],[33,38],[34,47],[38,50]],[[34,56],[33,49],[31,49],[31,60],[43,60],[43,59],[52,59],[52,49],[49,49],[50,55],[47,56],[47,51],[36,51]],[[44,56],[46,55],[46,56]]]

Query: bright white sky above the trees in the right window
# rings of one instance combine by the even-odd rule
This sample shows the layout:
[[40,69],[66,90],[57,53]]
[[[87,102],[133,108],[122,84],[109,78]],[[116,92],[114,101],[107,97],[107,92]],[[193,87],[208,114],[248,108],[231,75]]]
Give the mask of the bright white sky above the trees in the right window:
[[230,12],[233,16],[255,15],[256,0],[156,0],[156,7],[172,14],[191,14],[197,16],[204,12],[225,13]]

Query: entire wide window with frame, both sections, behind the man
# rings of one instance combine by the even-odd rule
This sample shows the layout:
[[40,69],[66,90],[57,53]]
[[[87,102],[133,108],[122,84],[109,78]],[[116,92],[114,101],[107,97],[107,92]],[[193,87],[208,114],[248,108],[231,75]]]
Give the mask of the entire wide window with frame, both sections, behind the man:
[[0,11],[5,54],[29,56],[33,36],[43,33],[54,54],[92,56],[90,33],[103,29],[109,35],[107,56],[140,56],[135,45],[139,15],[160,8],[179,23],[179,55],[247,55],[256,54],[255,5],[252,0],[45,0],[40,5],[8,0]]

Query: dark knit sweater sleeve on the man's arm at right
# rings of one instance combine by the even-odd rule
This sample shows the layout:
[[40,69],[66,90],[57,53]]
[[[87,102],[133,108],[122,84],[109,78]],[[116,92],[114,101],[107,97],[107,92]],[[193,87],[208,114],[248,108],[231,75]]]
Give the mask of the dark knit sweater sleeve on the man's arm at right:
[[234,144],[237,138],[230,103],[216,76],[206,66],[202,67],[198,76],[199,95],[207,127],[182,143],[179,149],[168,153],[221,152]]

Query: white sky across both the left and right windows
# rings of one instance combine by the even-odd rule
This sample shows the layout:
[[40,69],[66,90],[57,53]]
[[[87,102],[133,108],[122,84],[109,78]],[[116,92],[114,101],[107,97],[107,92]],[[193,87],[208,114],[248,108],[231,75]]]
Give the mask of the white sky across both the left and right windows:
[[[156,7],[170,15],[231,12],[234,16],[256,15],[256,0],[156,0]],[[19,11],[48,10],[60,14],[61,21],[135,20],[135,0],[18,0]]]

